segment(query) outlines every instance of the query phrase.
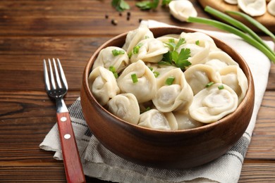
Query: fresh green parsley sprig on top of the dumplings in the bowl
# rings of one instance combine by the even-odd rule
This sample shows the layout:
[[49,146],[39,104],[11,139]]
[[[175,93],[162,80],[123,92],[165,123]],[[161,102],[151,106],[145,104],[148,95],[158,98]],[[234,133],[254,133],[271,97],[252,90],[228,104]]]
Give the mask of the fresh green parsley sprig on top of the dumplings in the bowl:
[[176,51],[182,44],[185,44],[184,38],[179,39],[177,44],[175,43],[174,39],[169,39],[169,42],[165,44],[169,47],[169,51],[164,53],[164,57],[162,58],[162,61],[159,62],[159,64],[173,65],[181,68],[181,70],[185,70],[185,67],[191,65],[191,63],[188,61],[191,53],[190,49],[183,48],[181,49],[180,53]]

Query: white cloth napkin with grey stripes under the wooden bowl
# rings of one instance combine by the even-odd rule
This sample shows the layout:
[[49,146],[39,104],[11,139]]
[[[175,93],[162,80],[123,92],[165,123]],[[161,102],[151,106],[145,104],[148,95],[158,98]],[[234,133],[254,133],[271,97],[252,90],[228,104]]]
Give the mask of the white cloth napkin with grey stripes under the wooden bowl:
[[[169,26],[154,20],[142,21],[141,25],[148,27]],[[255,127],[257,112],[267,87],[271,62],[262,52],[234,34],[200,31],[211,34],[235,48],[250,66],[255,80],[255,108],[250,125],[243,137],[224,156],[197,168],[184,170],[149,168],[130,163],[105,149],[87,127],[82,115],[80,98],[78,98],[69,111],[85,175],[112,182],[238,182],[245,153]],[[273,42],[267,42],[267,44],[274,49]],[[56,151],[54,158],[62,159],[57,125],[52,127],[39,147],[47,151]]]

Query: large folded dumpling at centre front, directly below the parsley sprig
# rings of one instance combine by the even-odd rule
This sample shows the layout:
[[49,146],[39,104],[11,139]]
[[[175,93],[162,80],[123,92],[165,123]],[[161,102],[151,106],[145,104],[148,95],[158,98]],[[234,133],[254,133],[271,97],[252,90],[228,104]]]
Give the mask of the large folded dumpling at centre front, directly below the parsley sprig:
[[[171,78],[173,82],[167,84]],[[180,68],[169,70],[158,77],[157,93],[152,101],[157,110],[163,113],[188,110],[193,101],[193,92]]]

